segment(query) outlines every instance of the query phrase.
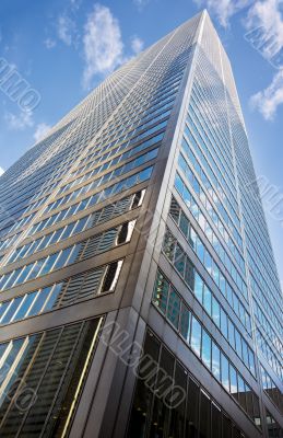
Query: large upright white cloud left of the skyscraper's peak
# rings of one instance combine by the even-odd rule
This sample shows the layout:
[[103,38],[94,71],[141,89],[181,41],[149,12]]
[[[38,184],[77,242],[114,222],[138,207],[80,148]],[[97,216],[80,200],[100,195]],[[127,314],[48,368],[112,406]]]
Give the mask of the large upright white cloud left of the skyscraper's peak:
[[94,74],[107,74],[122,64],[123,44],[119,22],[111,11],[95,4],[84,26],[84,88],[91,85]]

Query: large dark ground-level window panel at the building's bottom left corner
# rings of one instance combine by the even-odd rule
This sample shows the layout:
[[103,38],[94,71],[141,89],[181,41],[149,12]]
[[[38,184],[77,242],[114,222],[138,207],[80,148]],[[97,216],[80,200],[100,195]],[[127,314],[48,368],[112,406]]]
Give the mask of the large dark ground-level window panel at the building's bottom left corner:
[[[9,343],[10,353],[3,367],[7,370],[16,367],[17,372],[7,373],[0,383],[1,436],[56,436],[63,429],[69,435],[78,390],[81,393],[83,389],[101,324],[102,319],[80,322]],[[3,368],[0,370],[3,377],[2,371]],[[27,382],[33,382],[30,388],[36,388],[38,396],[33,400],[28,392],[25,401],[22,389]],[[16,415],[16,403],[10,403],[14,394],[25,411],[24,416]]]

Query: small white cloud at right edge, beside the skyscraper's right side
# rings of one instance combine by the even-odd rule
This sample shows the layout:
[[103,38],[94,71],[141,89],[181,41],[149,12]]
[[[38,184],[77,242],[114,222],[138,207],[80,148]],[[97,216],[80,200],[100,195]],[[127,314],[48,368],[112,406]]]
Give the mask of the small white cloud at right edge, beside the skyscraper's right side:
[[283,104],[283,70],[280,70],[271,84],[250,99],[250,104],[258,110],[267,120],[273,119],[276,110]]

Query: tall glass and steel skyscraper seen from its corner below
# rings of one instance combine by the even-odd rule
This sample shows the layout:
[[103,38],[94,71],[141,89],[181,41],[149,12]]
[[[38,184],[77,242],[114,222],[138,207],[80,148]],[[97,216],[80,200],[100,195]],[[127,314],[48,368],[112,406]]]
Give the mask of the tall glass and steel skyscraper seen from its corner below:
[[282,437],[282,292],[208,13],[0,178],[0,436]]

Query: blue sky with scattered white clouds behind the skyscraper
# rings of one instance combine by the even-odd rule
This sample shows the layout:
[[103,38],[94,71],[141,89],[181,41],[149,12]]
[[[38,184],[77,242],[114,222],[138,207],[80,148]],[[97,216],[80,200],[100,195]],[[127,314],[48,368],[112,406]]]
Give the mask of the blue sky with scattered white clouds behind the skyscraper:
[[1,0],[0,62],[37,93],[38,105],[23,112],[0,82],[0,166],[127,58],[204,7],[233,65],[283,279],[283,0]]

